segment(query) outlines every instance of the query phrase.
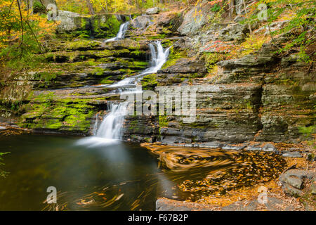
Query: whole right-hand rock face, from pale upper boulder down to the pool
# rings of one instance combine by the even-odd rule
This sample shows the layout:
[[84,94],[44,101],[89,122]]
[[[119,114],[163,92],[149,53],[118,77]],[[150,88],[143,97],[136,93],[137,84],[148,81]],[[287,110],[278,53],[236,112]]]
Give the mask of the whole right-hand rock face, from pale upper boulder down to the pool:
[[[196,120],[185,124],[183,117],[160,115],[158,140],[209,146],[214,141],[301,141],[300,127],[315,124],[315,81],[310,65],[298,62],[297,53],[277,55],[272,41],[246,56],[223,60],[226,49],[244,41],[248,26],[215,23],[203,27],[202,23],[196,27],[187,17],[191,11],[178,28],[186,36],[173,43],[164,68],[148,77],[155,81],[143,85],[150,89],[195,86]],[[216,68],[212,75],[203,56],[211,56],[211,68]]]

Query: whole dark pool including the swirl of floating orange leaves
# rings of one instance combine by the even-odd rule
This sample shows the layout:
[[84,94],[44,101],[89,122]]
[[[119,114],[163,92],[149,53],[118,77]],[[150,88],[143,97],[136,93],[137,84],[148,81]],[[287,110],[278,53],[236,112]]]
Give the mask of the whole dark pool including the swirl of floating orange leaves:
[[[275,153],[165,146],[157,150],[159,162],[138,145],[88,148],[78,140],[0,136],[0,153],[11,152],[0,165],[9,172],[0,177],[0,210],[155,210],[159,197],[198,200],[225,194],[277,179],[286,167]],[[57,203],[47,204],[51,186]]]

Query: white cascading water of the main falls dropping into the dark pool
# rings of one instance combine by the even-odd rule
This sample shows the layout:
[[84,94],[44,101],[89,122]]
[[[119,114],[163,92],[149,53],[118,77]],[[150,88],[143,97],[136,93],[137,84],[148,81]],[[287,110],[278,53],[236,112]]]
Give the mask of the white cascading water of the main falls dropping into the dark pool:
[[[119,87],[129,85],[129,88],[124,89],[124,93],[131,92],[136,94],[139,90],[137,87],[138,82],[142,77],[148,74],[152,74],[157,72],[162,68],[164,63],[169,56],[169,48],[164,49],[162,47],[162,43],[160,41],[155,41],[153,44],[150,44],[151,51],[151,66],[147,68],[139,75],[128,77],[126,79],[117,82],[117,84],[112,84],[110,87]],[[141,86],[140,86],[141,87]],[[119,89],[120,93],[123,92],[122,89]],[[85,146],[100,146],[100,145],[111,145],[115,143],[119,143],[122,137],[122,128],[124,124],[124,117],[128,113],[128,103],[112,103],[110,105],[110,113],[107,113],[103,118],[103,121],[98,127],[98,115],[96,118],[96,124],[93,127],[93,135],[92,137],[88,137],[85,139],[81,139],[77,142],[79,145]]]

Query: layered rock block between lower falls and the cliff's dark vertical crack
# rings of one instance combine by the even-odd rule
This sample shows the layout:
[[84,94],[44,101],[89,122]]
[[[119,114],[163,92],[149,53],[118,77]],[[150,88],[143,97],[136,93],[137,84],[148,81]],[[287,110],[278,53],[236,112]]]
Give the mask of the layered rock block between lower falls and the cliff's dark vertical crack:
[[[158,74],[161,81],[163,74]],[[166,77],[166,79],[170,79]],[[164,83],[165,85],[168,83]],[[173,83],[174,84],[174,83]],[[197,117],[185,124],[179,117],[170,117],[161,129],[162,136],[183,136],[196,143],[219,141],[242,143],[254,139],[260,126],[259,118],[251,110],[232,110],[239,105],[258,101],[256,85],[199,85],[196,93]],[[256,106],[254,106],[256,107]],[[171,127],[172,126],[172,127]]]

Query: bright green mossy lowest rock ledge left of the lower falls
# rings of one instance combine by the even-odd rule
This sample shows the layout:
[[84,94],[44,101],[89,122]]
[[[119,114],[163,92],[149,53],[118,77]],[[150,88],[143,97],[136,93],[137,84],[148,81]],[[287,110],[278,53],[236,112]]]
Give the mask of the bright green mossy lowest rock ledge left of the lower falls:
[[58,99],[52,93],[34,97],[22,115],[20,127],[88,132],[96,109],[90,99]]

